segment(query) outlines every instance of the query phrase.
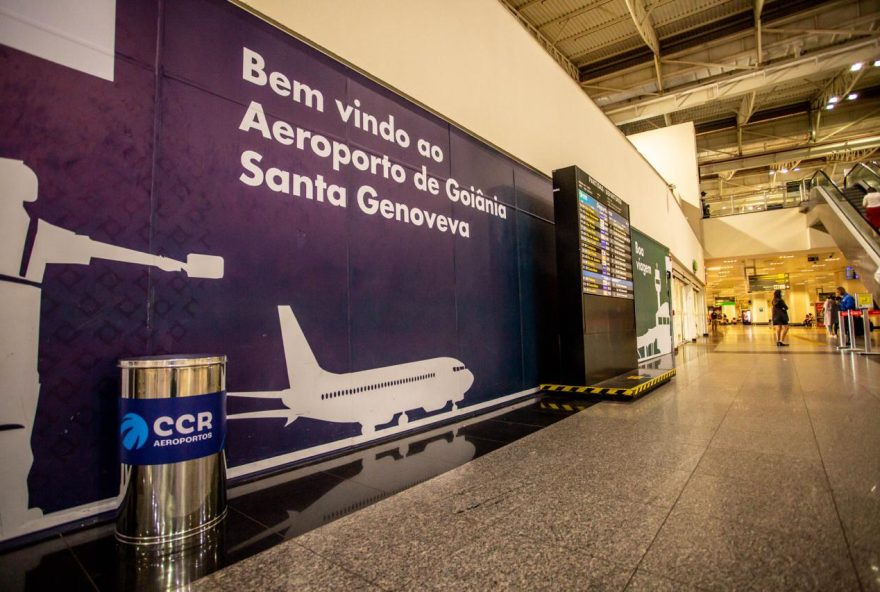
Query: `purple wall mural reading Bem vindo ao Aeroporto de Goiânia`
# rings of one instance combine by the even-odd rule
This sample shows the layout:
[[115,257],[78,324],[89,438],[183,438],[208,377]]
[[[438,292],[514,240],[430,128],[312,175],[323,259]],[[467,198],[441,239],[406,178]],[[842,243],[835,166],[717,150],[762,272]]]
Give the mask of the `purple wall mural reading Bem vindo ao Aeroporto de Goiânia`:
[[[228,356],[233,476],[555,376],[549,179],[226,2],[127,1],[116,27],[113,81],[0,47],[0,159],[24,179],[3,207],[27,218],[3,318],[24,318],[13,290],[39,301],[0,538],[116,496],[121,357]],[[56,228],[94,249],[37,278]]]

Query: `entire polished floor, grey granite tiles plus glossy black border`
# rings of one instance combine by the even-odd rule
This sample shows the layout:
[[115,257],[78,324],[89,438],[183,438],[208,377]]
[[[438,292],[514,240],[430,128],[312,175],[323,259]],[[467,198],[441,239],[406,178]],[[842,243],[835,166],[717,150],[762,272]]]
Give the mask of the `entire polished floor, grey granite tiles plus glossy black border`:
[[229,565],[193,588],[880,590],[880,360],[818,329],[790,341],[721,328],[635,402],[559,420],[528,401],[239,486],[187,574],[120,555],[104,527],[0,556],[0,587]]

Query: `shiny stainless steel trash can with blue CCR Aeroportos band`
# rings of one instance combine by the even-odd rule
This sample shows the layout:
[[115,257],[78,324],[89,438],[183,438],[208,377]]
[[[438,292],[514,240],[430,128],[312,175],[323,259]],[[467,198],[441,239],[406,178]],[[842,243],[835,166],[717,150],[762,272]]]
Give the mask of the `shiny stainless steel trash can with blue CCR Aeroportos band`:
[[119,367],[116,538],[180,546],[226,515],[226,356],[128,358]]

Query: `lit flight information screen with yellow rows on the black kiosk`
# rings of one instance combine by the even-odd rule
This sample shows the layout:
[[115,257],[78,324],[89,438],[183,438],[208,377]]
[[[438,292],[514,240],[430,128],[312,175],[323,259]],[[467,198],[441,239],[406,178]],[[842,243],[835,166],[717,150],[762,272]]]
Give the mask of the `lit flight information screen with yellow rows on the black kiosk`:
[[616,196],[578,180],[584,294],[633,299],[628,213],[626,204]]

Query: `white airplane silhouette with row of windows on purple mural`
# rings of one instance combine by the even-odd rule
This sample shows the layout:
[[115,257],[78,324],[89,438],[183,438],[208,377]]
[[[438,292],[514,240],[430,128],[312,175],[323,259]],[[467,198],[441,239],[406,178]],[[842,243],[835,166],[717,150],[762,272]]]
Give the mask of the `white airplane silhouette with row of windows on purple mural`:
[[455,358],[431,358],[348,374],[321,368],[293,310],[279,306],[281,337],[290,385],[281,391],[227,393],[230,397],[281,399],[287,409],[254,411],[228,419],[286,418],[285,427],[298,417],[359,423],[363,435],[377,425],[394,421],[399,426],[407,411],[439,411],[449,401],[459,402],[474,383],[474,375]]

